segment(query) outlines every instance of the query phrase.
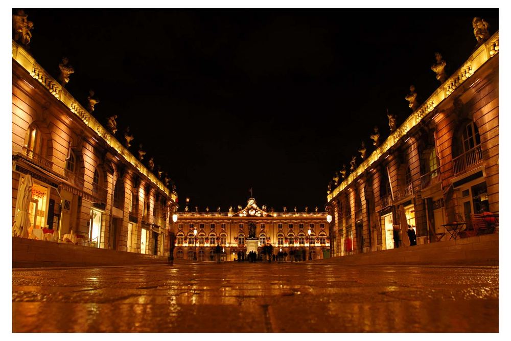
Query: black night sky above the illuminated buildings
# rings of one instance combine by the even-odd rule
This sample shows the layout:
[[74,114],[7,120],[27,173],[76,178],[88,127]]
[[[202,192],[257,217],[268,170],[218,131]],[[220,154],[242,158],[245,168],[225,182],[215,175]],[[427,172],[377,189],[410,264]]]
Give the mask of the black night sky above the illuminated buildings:
[[303,211],[326,203],[327,183],[385,109],[410,115],[439,86],[436,51],[450,75],[475,48],[472,18],[498,29],[496,9],[26,9],[31,53],[101,122],[129,125],[131,151],[169,172],[181,206],[260,204]]

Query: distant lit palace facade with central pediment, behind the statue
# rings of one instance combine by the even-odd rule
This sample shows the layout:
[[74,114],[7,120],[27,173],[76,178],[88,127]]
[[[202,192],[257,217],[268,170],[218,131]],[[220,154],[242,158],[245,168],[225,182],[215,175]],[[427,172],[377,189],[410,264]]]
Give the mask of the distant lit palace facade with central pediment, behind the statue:
[[[174,258],[215,259],[215,247],[222,247],[223,260],[238,258],[238,252],[250,251],[250,241],[257,240],[255,252],[272,245],[273,254],[300,249],[312,259],[329,257],[330,239],[326,212],[266,212],[254,198],[238,212],[178,212]],[[309,234],[310,232],[310,234]],[[289,256],[288,256],[289,258]],[[308,256],[307,256],[308,258]]]

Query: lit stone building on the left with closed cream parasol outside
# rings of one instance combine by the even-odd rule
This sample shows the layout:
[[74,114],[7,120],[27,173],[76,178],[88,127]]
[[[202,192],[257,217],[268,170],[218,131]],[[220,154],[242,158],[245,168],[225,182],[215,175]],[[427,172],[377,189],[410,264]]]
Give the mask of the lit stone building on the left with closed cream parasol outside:
[[13,40],[13,221],[31,177],[24,237],[168,256],[176,193],[91,115],[98,101],[67,92],[63,69],[59,82]]

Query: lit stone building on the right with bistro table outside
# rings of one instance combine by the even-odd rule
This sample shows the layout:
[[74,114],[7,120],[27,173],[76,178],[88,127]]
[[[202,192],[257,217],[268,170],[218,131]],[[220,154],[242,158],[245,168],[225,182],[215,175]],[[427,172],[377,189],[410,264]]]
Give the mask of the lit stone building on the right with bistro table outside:
[[419,244],[445,240],[447,223],[463,222],[470,235],[474,214],[498,214],[498,50],[498,32],[486,34],[450,77],[437,54],[440,87],[422,105],[411,88],[411,115],[399,127],[389,117],[381,144],[371,135],[375,150],[329,188],[332,255],[393,248],[394,229],[407,246],[408,225]]

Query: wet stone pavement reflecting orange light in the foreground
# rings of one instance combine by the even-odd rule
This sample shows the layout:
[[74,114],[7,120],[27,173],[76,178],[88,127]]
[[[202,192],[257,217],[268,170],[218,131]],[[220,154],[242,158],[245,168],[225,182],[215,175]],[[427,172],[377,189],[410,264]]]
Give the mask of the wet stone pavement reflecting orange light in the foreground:
[[498,332],[498,267],[13,269],[14,332]]

